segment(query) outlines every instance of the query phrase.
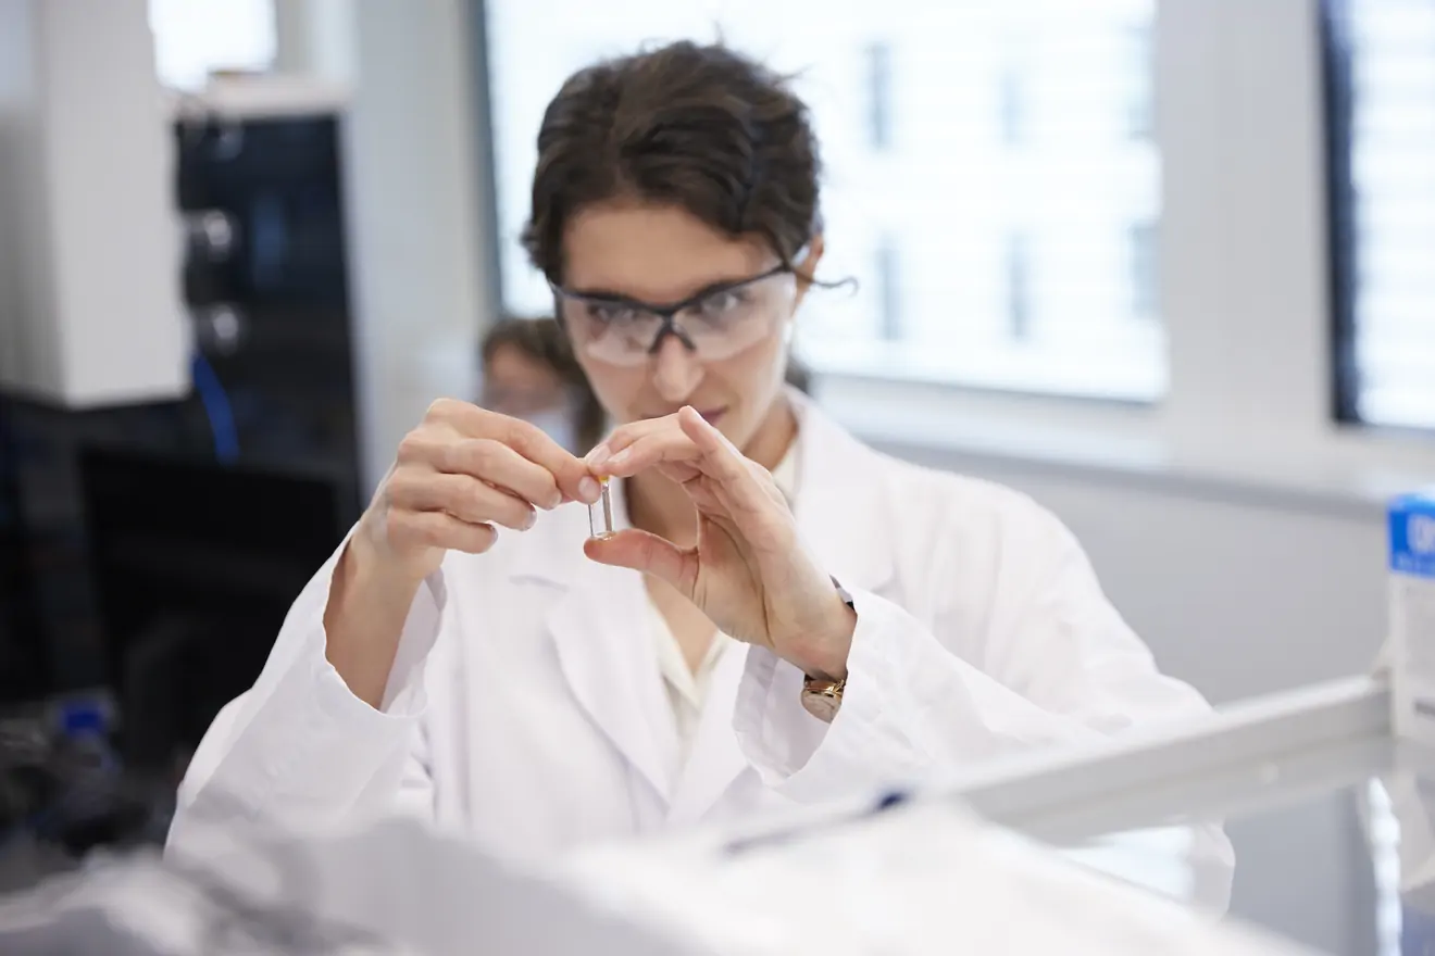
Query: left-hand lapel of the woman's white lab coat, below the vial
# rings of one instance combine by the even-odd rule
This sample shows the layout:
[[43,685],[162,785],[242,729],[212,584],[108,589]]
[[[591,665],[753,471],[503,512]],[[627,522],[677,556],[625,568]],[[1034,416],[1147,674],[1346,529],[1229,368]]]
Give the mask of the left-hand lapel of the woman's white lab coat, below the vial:
[[[614,519],[626,527],[621,492],[614,492]],[[575,559],[560,558],[542,569],[527,565],[515,573],[545,575],[565,589],[545,618],[563,678],[588,718],[666,804],[673,788],[669,768],[677,761],[677,732],[647,632],[643,579],[637,572],[583,558],[578,549],[585,522],[581,530],[574,527]]]

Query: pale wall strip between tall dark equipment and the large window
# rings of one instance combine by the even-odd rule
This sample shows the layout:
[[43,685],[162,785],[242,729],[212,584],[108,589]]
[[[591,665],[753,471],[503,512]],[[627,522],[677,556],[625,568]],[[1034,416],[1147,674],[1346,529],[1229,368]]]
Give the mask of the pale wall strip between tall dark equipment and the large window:
[[372,486],[433,398],[471,394],[488,318],[479,228],[488,171],[474,128],[471,4],[352,1],[344,195]]

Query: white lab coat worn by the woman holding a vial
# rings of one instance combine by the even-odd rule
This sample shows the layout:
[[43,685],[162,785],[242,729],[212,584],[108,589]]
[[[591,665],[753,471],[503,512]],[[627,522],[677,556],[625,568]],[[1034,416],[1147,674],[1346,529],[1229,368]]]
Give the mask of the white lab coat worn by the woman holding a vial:
[[443,560],[382,709],[324,658],[334,559],[321,568],[199,745],[171,849],[205,851],[244,821],[309,830],[399,810],[545,860],[1207,711],[1157,672],[1052,515],[799,414],[796,520],[858,619],[831,725],[801,707],[796,668],[738,646],[674,774],[641,578],[583,556],[588,519],[570,505]]

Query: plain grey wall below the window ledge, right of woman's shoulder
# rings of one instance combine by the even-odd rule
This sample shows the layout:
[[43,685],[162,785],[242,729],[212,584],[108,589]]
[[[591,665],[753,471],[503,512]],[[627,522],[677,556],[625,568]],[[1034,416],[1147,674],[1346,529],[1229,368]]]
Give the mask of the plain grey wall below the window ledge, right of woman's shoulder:
[[1056,512],[1162,668],[1214,701],[1365,671],[1380,645],[1385,525],[1373,503],[905,453]]

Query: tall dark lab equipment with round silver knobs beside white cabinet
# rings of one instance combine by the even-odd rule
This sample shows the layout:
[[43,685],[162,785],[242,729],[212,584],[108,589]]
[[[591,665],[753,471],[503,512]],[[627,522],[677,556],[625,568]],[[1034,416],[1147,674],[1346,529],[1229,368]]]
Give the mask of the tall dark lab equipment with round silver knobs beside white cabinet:
[[188,116],[175,126],[177,196],[195,388],[217,421],[217,453],[327,474],[346,484],[356,517],[339,123],[333,113]]

